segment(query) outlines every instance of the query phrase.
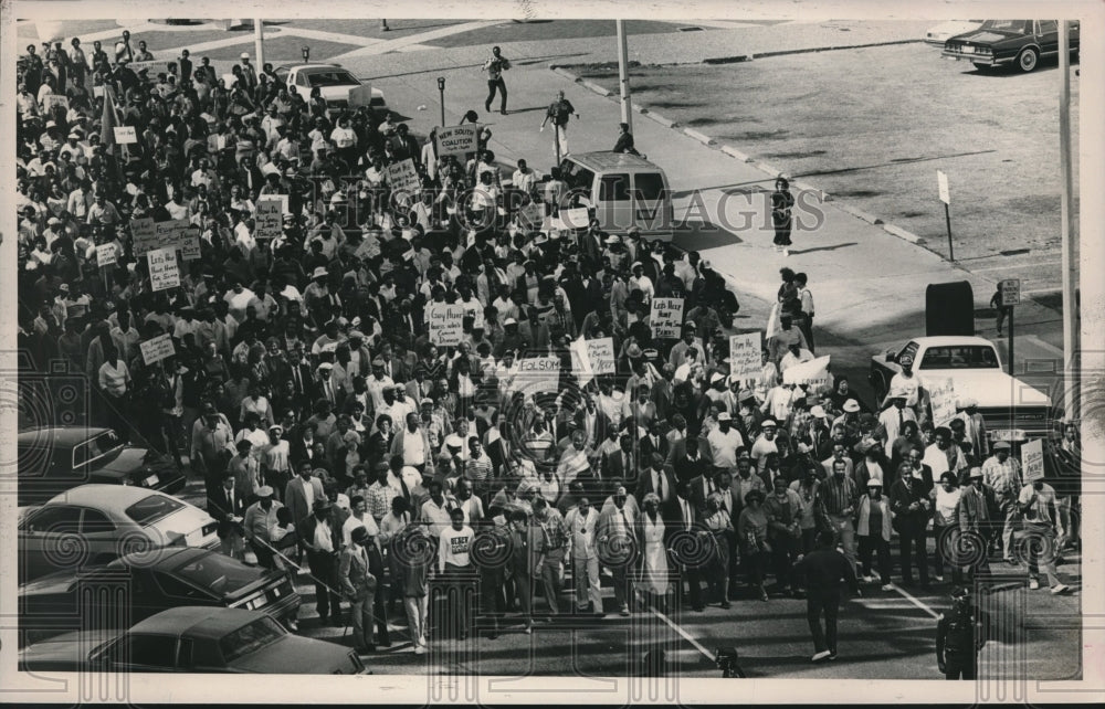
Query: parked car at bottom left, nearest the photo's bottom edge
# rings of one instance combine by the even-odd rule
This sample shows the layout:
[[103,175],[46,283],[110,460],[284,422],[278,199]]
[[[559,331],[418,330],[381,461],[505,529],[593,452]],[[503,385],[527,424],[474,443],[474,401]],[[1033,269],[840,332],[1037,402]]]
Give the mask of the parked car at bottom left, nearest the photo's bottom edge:
[[162,611],[122,633],[57,635],[20,650],[18,666],[66,673],[372,674],[352,649],[292,635],[264,613],[203,606]]

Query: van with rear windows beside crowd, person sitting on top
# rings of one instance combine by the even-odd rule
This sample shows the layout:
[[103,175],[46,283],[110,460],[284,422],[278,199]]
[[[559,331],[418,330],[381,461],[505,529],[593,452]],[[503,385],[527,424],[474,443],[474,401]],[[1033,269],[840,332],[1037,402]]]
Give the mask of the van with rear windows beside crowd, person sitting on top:
[[659,166],[624,152],[583,152],[560,161],[560,177],[603,231],[636,226],[642,236],[672,240],[672,190]]

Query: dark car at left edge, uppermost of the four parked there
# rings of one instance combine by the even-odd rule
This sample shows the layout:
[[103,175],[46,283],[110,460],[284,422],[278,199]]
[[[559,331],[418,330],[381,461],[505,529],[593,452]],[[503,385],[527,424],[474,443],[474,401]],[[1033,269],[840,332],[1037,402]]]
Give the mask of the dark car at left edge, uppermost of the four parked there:
[[36,505],[86,483],[179,493],[187,483],[171,458],[127,444],[110,428],[51,426],[19,433],[20,506]]

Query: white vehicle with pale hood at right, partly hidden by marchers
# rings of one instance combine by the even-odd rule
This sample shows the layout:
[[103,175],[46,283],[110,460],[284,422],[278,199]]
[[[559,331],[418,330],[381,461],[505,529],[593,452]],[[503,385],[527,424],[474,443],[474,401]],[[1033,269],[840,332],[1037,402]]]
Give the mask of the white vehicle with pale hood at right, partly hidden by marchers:
[[978,412],[991,435],[1019,432],[1039,437],[1048,433],[1051,398],[1007,374],[997,348],[981,337],[917,337],[904,347],[873,356],[869,380],[876,402],[882,402],[891,380],[902,371],[897,362],[904,354],[913,357],[913,371],[920,378],[929,417],[932,401],[924,390],[930,382],[935,385],[951,380],[956,399],[974,399],[978,403]]

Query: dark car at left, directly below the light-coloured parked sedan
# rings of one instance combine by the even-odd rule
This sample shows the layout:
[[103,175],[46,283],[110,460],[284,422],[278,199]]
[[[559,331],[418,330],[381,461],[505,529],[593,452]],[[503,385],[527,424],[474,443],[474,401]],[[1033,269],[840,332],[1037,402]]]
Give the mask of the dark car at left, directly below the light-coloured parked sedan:
[[294,621],[299,603],[285,573],[194,547],[130,553],[19,588],[20,629],[28,633],[24,642],[72,631],[74,617],[85,618],[85,629],[125,629],[183,604],[261,611]]

